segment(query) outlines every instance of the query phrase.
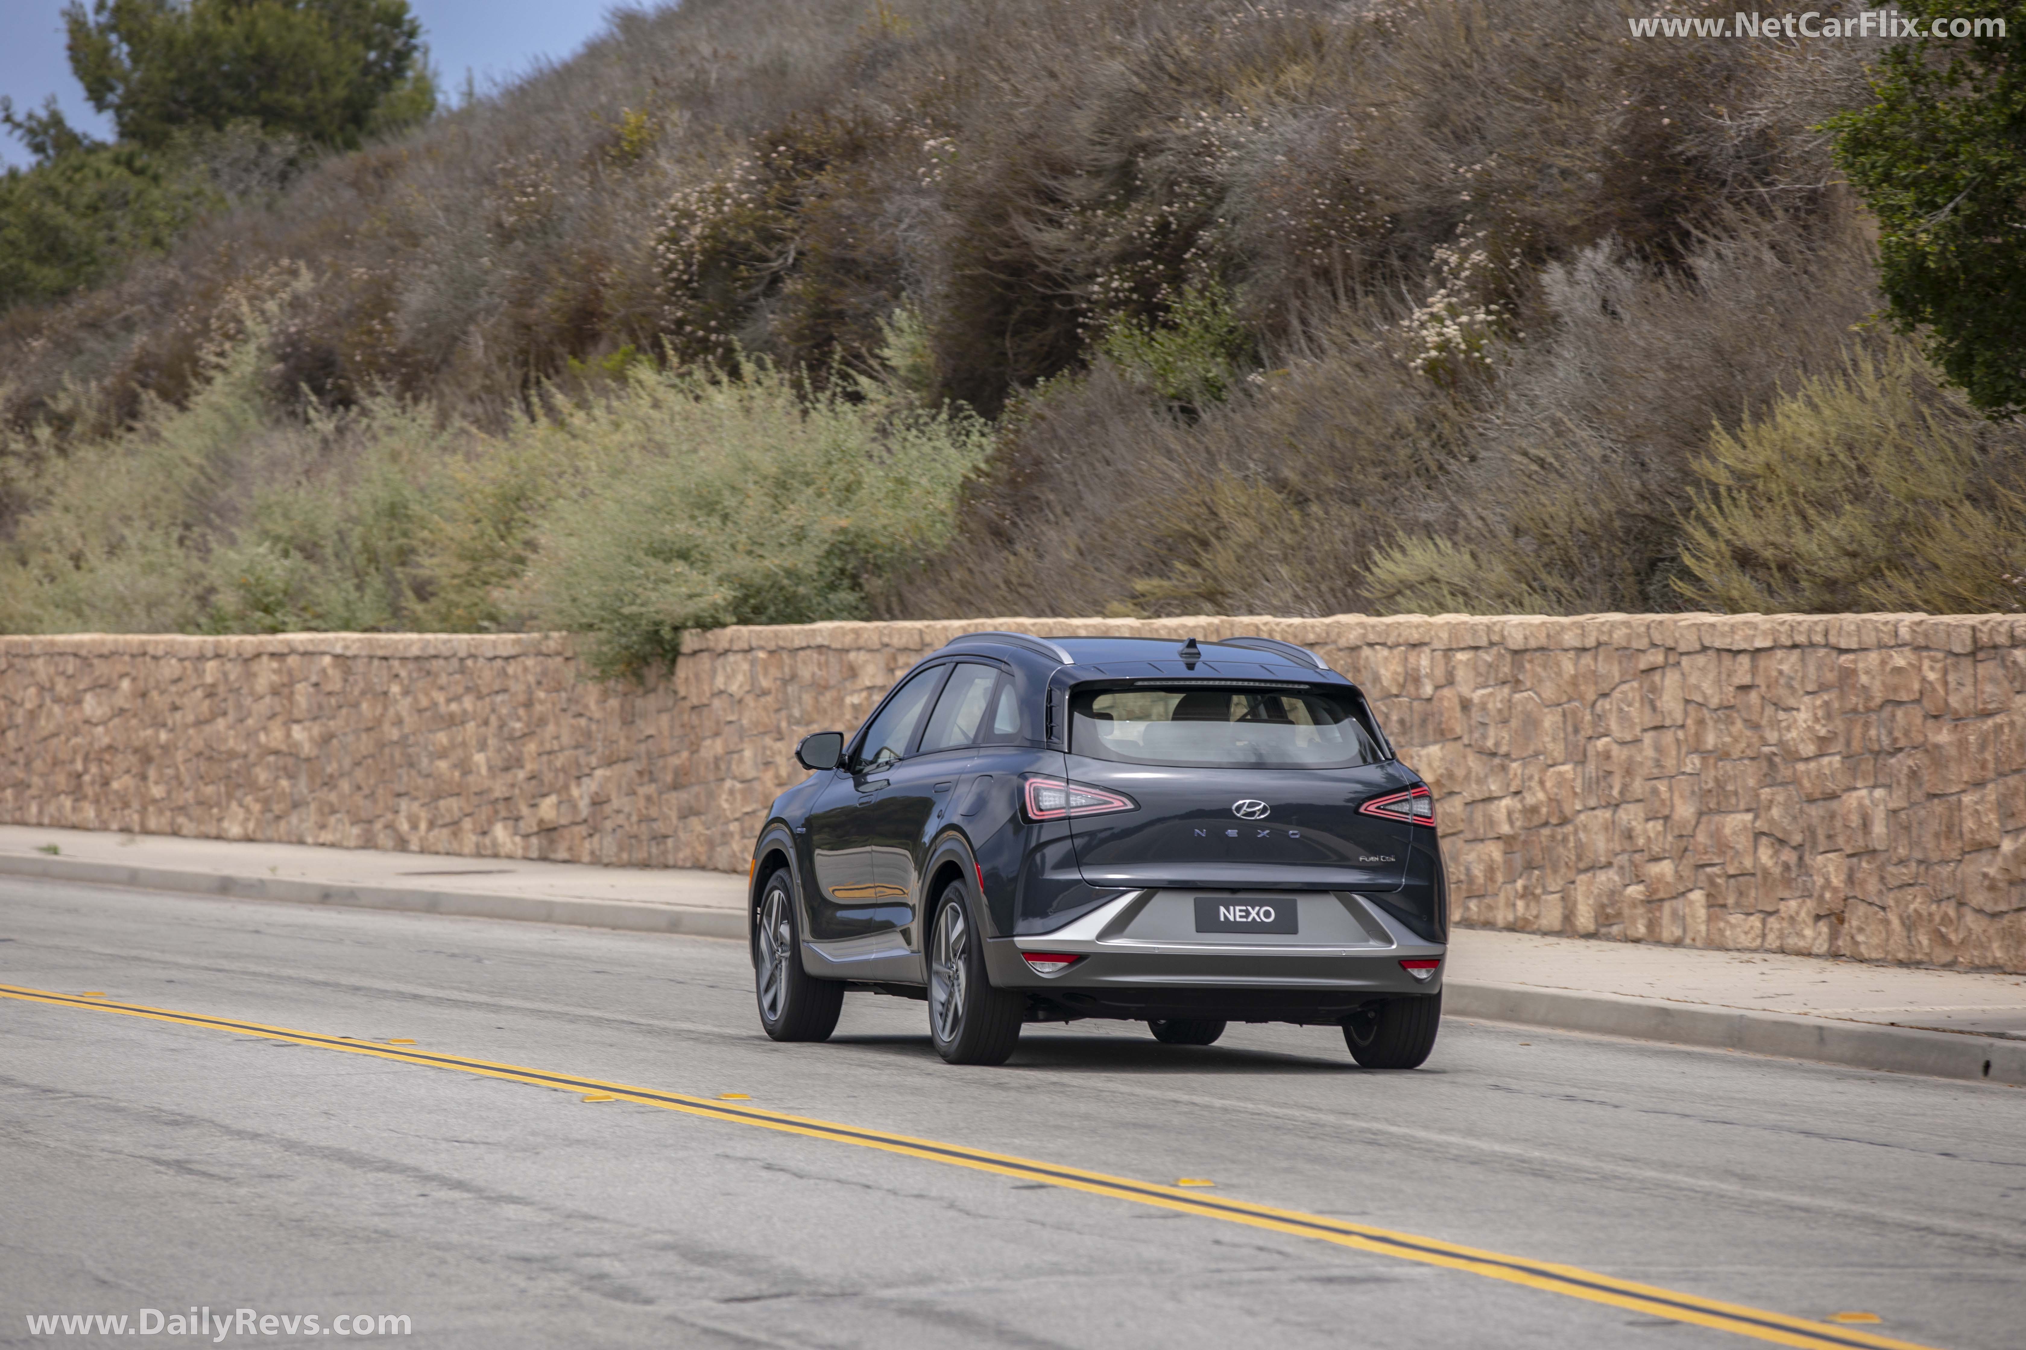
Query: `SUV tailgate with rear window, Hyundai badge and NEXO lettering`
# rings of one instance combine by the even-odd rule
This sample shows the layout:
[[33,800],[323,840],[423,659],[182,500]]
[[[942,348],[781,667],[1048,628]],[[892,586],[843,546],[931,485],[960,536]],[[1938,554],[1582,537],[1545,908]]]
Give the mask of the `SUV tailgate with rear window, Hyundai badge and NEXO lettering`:
[[1410,824],[1359,808],[1414,781],[1341,684],[1070,690],[1068,775],[1131,810],[1070,816],[1092,887],[1396,891]]

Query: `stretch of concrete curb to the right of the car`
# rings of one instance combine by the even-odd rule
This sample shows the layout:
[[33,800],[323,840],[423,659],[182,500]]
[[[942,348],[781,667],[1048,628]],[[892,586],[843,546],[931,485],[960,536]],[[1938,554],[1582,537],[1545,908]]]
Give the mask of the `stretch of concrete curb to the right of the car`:
[[1665,1040],[1746,1054],[1811,1059],[1884,1073],[2026,1085],[2026,1040],[1937,1032],[1878,1022],[1840,1022],[1791,1012],[1748,1012],[1659,998],[1536,990],[1513,984],[1445,986],[1443,1012],[1491,1022]]

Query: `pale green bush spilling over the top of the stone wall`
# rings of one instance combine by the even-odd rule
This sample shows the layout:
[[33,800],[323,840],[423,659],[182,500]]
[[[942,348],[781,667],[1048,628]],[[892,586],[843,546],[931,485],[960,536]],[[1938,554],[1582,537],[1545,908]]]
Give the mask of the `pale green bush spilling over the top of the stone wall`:
[[989,439],[966,413],[810,391],[758,362],[634,370],[525,435],[565,492],[527,595],[541,621],[590,634],[608,674],[673,662],[689,627],[861,617],[873,577],[948,538]]

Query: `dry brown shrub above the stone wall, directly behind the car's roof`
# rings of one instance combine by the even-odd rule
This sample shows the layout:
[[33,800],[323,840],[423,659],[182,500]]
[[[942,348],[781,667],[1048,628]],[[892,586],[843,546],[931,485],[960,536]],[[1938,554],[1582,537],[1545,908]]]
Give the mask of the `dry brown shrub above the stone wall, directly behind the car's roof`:
[[[1345,322],[1199,417],[1110,362],[1021,403],[887,613],[1339,613],[1457,451],[1457,405]],[[1015,601],[1021,601],[1017,605]]]

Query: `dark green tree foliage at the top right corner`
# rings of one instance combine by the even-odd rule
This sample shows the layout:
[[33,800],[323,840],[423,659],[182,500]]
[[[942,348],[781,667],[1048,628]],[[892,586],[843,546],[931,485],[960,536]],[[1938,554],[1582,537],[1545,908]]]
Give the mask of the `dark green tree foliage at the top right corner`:
[[[1898,0],[1878,101],[1829,121],[1888,316],[1990,417],[2026,411],[2026,4]],[[1947,36],[1941,36],[1941,34]]]

